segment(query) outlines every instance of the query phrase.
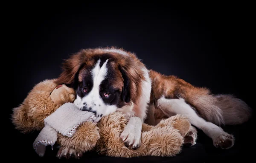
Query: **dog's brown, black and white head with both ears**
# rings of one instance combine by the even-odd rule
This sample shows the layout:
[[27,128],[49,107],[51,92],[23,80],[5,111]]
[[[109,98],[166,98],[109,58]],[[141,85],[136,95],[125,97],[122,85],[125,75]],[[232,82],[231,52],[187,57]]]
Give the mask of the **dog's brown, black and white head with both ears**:
[[79,109],[94,112],[97,122],[138,102],[143,66],[133,53],[120,49],[85,49],[65,60],[56,83],[73,87]]

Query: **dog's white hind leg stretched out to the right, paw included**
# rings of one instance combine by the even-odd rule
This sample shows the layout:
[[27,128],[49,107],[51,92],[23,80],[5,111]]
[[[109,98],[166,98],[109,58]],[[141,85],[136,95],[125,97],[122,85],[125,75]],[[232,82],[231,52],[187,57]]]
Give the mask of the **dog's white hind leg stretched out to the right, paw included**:
[[207,136],[212,138],[213,145],[215,147],[229,149],[234,145],[235,139],[233,135],[224,132],[221,127],[213,124],[212,122],[205,121],[203,118],[199,117],[195,110],[193,110],[183,98],[167,99],[165,97],[161,97],[157,101],[157,107],[167,116],[173,114],[186,116],[192,125],[201,129]]

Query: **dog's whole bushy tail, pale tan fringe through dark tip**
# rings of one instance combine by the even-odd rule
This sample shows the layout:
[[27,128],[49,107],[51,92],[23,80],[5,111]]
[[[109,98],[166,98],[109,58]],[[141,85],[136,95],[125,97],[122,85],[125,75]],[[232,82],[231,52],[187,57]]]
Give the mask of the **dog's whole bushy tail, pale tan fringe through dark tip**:
[[206,88],[185,90],[182,98],[201,118],[216,125],[242,124],[252,116],[252,109],[241,99],[232,95],[212,95]]

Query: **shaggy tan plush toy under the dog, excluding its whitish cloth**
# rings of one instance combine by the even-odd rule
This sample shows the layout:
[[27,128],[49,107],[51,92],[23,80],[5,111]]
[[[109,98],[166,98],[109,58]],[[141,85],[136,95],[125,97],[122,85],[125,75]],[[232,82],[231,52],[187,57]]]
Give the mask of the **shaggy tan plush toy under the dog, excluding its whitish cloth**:
[[[68,102],[74,102],[75,91],[65,85],[56,85],[54,79],[45,80],[33,87],[22,104],[13,109],[12,123],[22,133],[44,128],[44,119]],[[191,124],[181,116],[175,115],[160,121],[156,126],[143,124],[142,145],[129,149],[119,138],[128,118],[121,112],[113,112],[96,124],[84,122],[70,138],[58,133],[57,142],[61,148],[57,156],[68,157],[70,153],[76,158],[83,152],[93,149],[99,154],[112,157],[139,156],[175,156],[181,152],[184,137]]]

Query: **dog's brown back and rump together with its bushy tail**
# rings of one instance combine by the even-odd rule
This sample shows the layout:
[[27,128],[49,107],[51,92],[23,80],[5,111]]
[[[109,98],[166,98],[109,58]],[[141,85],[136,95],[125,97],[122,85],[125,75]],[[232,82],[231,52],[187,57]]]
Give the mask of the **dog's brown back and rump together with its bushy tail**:
[[[154,70],[151,70],[150,76],[153,95],[151,101],[161,96],[183,98],[201,118],[216,125],[242,124],[252,115],[251,108],[235,96],[214,95],[207,88],[195,87],[176,76],[166,76]],[[169,112],[169,108],[165,109],[162,114]]]

